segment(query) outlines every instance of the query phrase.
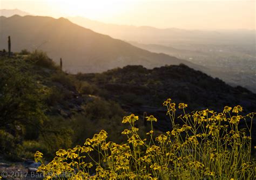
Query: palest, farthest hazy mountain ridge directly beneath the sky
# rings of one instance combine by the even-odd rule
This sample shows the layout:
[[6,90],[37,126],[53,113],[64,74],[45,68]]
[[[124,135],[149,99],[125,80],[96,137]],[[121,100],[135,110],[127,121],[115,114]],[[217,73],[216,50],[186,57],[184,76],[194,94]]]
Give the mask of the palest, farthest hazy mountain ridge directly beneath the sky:
[[136,41],[143,44],[171,45],[172,43],[232,44],[253,42],[255,30],[183,30],[179,28],[160,29],[151,26],[128,26],[106,24],[84,17],[68,17],[73,23],[111,37]]

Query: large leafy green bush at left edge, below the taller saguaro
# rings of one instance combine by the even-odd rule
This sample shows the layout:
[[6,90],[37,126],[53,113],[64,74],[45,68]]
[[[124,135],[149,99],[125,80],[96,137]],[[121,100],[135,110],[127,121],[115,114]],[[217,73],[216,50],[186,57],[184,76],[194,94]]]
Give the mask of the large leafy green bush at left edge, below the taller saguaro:
[[[12,64],[10,66],[10,64]],[[6,59],[0,61],[0,127],[5,125],[43,121],[43,89],[30,72],[30,64]]]

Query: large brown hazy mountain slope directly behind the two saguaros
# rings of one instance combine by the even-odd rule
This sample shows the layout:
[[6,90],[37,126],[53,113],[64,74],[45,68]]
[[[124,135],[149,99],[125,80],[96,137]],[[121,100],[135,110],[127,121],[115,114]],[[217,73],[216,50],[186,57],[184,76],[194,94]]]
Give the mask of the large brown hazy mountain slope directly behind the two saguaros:
[[43,49],[55,62],[60,57],[71,73],[101,72],[128,64],[147,68],[184,63],[195,69],[200,66],[163,53],[151,53],[108,35],[93,32],[65,18],[18,15],[1,17],[0,48],[7,47],[11,36],[12,51],[26,48]]

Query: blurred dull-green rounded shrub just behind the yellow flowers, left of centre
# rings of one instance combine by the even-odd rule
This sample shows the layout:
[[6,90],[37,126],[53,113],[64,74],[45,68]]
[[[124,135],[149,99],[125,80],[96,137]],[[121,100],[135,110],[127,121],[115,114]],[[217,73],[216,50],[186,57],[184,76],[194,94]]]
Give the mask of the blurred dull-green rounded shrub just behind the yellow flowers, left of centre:
[[111,141],[121,142],[122,138],[116,136],[116,133],[122,132],[122,123],[119,119],[124,116],[124,111],[117,103],[94,99],[83,109],[84,114],[77,114],[72,118],[71,127],[74,131],[73,142],[75,145],[82,145],[85,139],[90,138],[103,128],[109,131]]

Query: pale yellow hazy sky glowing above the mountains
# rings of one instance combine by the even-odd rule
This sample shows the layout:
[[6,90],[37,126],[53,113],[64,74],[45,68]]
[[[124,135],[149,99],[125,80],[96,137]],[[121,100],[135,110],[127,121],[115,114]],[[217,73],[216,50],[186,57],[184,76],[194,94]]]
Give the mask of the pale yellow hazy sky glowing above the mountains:
[[186,29],[255,29],[255,0],[0,0],[0,9],[105,23]]

